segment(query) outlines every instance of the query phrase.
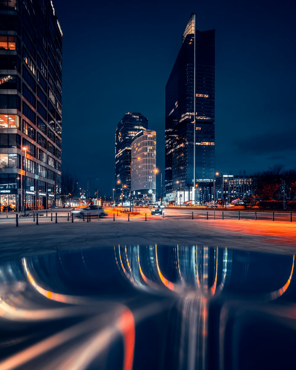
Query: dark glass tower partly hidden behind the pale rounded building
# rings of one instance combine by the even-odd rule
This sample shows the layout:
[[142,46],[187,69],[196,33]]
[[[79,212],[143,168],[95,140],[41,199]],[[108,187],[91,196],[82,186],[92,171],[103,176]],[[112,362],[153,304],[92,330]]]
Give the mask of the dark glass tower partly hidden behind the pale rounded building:
[[139,112],[128,112],[118,122],[115,132],[114,201],[116,203],[129,202],[131,189],[131,143],[138,132],[147,128],[148,119]]

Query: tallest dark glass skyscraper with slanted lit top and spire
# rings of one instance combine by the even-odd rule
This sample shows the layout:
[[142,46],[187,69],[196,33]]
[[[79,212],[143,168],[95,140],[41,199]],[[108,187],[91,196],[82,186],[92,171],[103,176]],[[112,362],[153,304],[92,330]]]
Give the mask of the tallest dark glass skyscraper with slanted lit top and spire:
[[195,25],[191,14],[165,88],[165,191],[177,203],[208,199],[214,176],[215,30]]

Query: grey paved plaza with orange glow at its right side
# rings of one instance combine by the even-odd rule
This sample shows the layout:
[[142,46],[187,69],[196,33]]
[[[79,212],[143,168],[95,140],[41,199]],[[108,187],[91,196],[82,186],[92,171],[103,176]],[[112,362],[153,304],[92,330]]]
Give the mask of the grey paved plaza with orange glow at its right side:
[[[69,210],[70,211],[70,210]],[[170,219],[154,216],[139,219],[113,212],[103,219],[67,221],[67,210],[57,210],[53,221],[51,211],[42,211],[38,225],[33,217],[20,218],[16,227],[15,214],[0,215],[0,256],[17,259],[21,256],[120,245],[198,245],[250,249],[272,253],[294,253],[296,222],[269,220],[205,219],[196,217]]]

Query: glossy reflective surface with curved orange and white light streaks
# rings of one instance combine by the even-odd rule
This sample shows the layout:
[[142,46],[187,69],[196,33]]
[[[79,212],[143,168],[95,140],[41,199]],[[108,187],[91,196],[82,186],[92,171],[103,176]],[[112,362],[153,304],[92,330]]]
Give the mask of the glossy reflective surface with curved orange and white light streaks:
[[270,340],[296,344],[294,260],[118,245],[3,263],[0,369],[284,368]]

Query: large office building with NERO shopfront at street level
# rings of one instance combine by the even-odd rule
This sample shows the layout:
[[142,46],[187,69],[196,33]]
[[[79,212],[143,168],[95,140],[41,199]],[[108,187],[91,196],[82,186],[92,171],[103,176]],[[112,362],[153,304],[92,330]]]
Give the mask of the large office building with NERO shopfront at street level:
[[50,0],[0,2],[1,210],[47,208],[61,179],[62,30]]

